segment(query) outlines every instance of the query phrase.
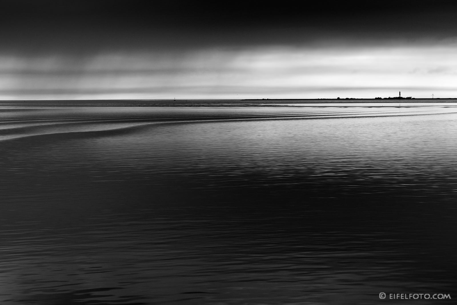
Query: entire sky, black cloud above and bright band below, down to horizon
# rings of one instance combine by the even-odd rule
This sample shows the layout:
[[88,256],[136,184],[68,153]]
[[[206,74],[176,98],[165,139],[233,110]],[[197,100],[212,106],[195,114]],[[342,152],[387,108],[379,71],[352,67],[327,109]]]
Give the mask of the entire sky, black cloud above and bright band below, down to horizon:
[[0,1],[0,100],[457,97],[453,1]]

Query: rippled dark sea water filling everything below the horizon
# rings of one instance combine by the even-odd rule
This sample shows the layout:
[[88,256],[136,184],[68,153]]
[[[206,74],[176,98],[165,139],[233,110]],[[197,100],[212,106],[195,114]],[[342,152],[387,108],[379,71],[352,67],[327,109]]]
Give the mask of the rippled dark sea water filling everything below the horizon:
[[0,304],[453,304],[457,107],[367,105],[0,104]]

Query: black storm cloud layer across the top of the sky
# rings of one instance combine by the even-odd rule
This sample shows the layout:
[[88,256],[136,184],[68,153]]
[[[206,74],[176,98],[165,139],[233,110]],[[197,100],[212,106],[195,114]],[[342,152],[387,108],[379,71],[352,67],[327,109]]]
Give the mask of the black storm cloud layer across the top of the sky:
[[373,44],[453,37],[448,1],[2,1],[3,51]]

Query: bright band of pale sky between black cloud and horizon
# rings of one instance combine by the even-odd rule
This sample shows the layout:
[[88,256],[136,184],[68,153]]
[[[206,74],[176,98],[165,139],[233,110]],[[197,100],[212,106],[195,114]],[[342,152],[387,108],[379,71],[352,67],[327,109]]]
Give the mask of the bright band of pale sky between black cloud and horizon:
[[1,100],[457,97],[457,45],[0,56]]

